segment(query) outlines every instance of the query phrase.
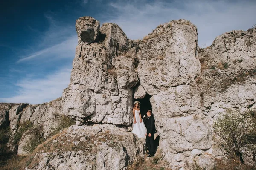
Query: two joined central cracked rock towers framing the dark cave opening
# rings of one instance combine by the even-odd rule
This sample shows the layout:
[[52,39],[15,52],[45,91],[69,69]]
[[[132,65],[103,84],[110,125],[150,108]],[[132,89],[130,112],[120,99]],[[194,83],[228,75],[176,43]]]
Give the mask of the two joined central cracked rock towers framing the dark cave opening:
[[132,41],[119,26],[105,23],[99,37],[99,42],[76,47],[70,84],[63,93],[64,114],[79,122],[131,125],[133,98],[148,93],[160,146],[171,167],[185,166],[185,158],[195,155],[192,150],[201,154],[210,149],[211,127],[202,118],[195,87],[201,72],[196,27],[186,20],[172,21]]

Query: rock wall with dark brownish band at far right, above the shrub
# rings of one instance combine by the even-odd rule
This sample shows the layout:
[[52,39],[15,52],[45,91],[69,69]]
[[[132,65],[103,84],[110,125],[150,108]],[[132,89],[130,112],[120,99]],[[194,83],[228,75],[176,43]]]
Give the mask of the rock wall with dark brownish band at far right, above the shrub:
[[[256,29],[230,31],[216,37],[211,46],[200,49],[201,75],[197,78],[203,114],[209,124],[228,109],[243,113],[256,108]],[[225,156],[214,135],[212,152]]]

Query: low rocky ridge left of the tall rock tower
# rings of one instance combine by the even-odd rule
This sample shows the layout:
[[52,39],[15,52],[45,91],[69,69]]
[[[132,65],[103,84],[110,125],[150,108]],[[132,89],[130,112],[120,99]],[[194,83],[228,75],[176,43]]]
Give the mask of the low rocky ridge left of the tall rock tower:
[[[24,134],[17,134],[19,129],[23,129],[23,124],[31,122],[32,126],[41,127],[40,132],[44,138],[52,133],[60,126],[62,120],[62,99],[50,101],[44,104],[0,104],[0,128],[10,127],[11,136],[7,143],[9,152],[26,154],[23,151],[23,146],[34,138],[30,133],[22,132]],[[28,129],[31,130],[31,129]],[[20,133],[20,132],[19,132]],[[17,136],[21,138],[17,138]],[[18,140],[18,141],[17,141]],[[20,141],[19,141],[20,140]],[[16,143],[18,142],[18,143]]]

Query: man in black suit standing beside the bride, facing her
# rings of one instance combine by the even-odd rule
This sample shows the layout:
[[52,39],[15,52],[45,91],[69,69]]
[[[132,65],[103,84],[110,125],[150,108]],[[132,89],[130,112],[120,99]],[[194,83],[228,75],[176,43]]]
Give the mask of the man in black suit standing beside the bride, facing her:
[[147,112],[148,121],[147,121],[147,133],[146,133],[146,144],[148,147],[148,157],[154,156],[154,134],[156,133],[156,127],[154,125],[154,117],[152,111],[148,110]]

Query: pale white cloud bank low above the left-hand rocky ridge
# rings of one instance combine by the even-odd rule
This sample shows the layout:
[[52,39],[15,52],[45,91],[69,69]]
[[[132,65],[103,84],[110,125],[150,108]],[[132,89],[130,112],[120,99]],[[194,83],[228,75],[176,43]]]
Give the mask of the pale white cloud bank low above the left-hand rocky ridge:
[[71,68],[62,68],[45,78],[24,78],[15,84],[19,88],[17,96],[0,98],[0,101],[40,104],[61,97],[63,89],[69,84],[70,71]]

